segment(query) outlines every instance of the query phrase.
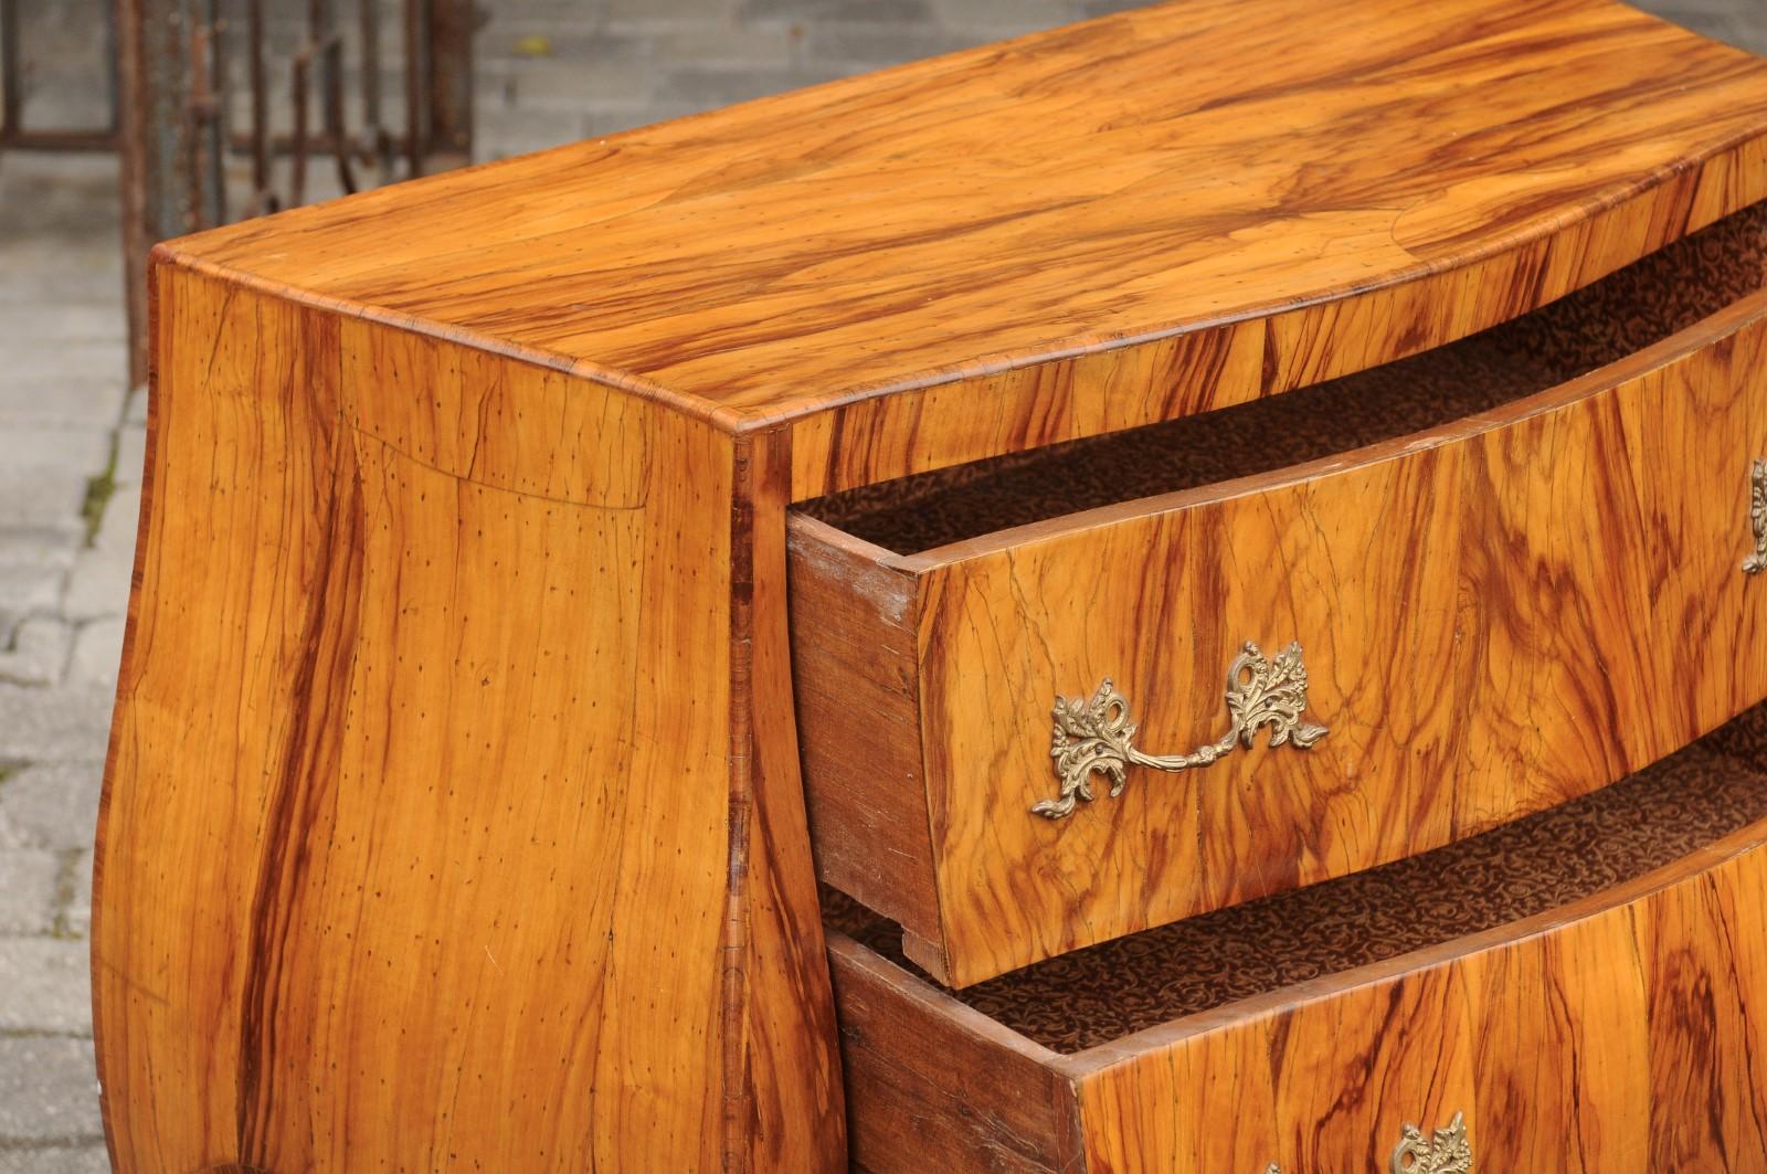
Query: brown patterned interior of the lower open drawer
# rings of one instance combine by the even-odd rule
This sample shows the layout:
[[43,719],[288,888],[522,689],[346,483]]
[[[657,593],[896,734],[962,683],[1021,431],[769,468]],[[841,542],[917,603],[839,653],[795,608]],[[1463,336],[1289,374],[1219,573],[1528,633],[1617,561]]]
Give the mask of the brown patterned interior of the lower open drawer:
[[[1444,849],[945,990],[1058,1054],[1546,914],[1767,819],[1767,704],[1590,796]],[[829,928],[926,978],[823,888]],[[933,981],[926,978],[926,981]],[[935,983],[937,985],[937,983]]]

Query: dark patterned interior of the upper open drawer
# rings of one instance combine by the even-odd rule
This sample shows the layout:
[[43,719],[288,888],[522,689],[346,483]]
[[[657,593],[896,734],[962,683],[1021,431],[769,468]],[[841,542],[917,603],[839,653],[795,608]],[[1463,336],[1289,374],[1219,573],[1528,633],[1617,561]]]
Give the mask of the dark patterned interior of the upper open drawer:
[[1202,415],[958,465],[799,509],[899,555],[1352,453],[1636,354],[1767,286],[1767,205],[1543,309],[1410,359]]

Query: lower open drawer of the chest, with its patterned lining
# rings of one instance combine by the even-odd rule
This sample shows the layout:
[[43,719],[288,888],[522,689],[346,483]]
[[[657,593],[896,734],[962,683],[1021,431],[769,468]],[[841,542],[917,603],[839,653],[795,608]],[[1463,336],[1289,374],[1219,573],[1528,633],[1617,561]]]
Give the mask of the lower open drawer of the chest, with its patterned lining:
[[1483,836],[961,992],[830,896],[855,1167],[1767,1169],[1763,762],[1751,709]]

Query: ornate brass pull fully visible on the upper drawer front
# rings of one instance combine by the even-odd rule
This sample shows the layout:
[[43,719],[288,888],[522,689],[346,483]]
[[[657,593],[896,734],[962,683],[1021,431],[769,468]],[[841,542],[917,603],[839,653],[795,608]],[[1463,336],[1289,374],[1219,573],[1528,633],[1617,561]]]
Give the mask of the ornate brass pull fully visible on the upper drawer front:
[[1136,725],[1129,721],[1129,700],[1106,677],[1090,702],[1083,697],[1055,698],[1055,737],[1050,743],[1050,757],[1055,759],[1055,776],[1062,780],[1062,794],[1030,810],[1044,819],[1069,815],[1080,799],[1092,801],[1094,773],[1110,778],[1110,794],[1115,799],[1122,794],[1129,766],[1154,771],[1209,766],[1239,743],[1251,746],[1253,734],[1262,725],[1270,727],[1272,746],[1293,743],[1306,750],[1325,737],[1323,725],[1301,720],[1306,707],[1308,667],[1301,659],[1301,644],[1293,642],[1269,659],[1248,640],[1226,670],[1226,709],[1232,716],[1228,732],[1187,755],[1145,755],[1134,748]]

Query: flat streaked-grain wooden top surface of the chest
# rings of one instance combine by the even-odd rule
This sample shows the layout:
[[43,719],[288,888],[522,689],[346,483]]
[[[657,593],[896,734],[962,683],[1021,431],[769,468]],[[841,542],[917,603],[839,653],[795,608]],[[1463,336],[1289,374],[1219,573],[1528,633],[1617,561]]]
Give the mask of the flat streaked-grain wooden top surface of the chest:
[[1180,0],[161,256],[753,424],[1474,274],[1763,134],[1767,62],[1608,0]]

